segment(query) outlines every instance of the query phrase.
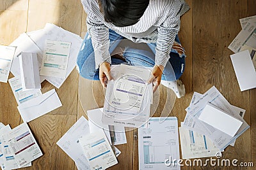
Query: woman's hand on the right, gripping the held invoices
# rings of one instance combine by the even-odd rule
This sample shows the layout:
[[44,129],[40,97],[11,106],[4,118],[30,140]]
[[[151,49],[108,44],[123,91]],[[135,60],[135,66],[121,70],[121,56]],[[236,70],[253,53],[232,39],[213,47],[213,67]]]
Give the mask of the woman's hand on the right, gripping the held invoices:
[[159,66],[155,65],[151,71],[151,74],[150,74],[150,77],[148,78],[147,83],[153,82],[153,92],[156,92],[157,87],[161,83],[163,71],[164,71],[164,66],[161,66],[161,65]]

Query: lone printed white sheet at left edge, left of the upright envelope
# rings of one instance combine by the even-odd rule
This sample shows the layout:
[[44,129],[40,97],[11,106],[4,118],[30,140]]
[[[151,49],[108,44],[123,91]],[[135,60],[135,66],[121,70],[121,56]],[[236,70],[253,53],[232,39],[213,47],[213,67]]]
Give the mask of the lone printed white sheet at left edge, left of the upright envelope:
[[14,46],[0,45],[0,82],[7,83],[14,53]]

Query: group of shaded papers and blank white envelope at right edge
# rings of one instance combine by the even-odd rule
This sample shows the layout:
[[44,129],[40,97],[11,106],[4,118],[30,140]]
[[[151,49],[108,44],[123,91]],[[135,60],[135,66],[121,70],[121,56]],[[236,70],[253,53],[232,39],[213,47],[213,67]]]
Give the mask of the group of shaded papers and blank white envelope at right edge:
[[235,53],[230,57],[243,91],[256,88],[256,15],[240,19],[240,24],[242,30],[228,48]]

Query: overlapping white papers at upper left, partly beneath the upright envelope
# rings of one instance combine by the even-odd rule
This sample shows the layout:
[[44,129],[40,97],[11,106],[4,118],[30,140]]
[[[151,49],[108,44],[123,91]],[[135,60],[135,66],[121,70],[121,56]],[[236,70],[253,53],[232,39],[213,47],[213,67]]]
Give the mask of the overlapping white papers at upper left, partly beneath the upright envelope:
[[[54,45],[51,44],[52,41],[55,41]],[[59,44],[56,41],[58,41]],[[11,43],[11,46],[17,47],[13,57],[11,72],[14,76],[20,77],[18,56],[21,52],[36,53],[39,71],[41,74],[47,75],[41,75],[40,81],[47,80],[59,89],[76,66],[76,58],[82,41],[83,39],[81,39],[80,36],[54,24],[46,24],[44,29],[38,31],[24,32]],[[68,48],[66,48],[66,51],[64,50],[64,53],[59,53],[59,50],[63,50],[64,44],[67,44]],[[68,56],[65,57],[64,55]],[[45,59],[48,59],[46,63]],[[47,67],[46,70],[45,67]]]

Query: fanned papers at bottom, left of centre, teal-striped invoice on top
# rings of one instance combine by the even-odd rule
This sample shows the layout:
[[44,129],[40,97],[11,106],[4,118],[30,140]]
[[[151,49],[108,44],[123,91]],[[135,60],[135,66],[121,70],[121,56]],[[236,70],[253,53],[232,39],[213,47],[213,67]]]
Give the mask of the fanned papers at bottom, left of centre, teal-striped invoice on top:
[[118,148],[109,145],[106,134],[102,129],[90,134],[88,120],[84,117],[77,120],[76,124],[61,137],[57,145],[74,160],[79,170],[100,167],[106,169],[117,164],[115,157],[118,157],[121,153]]

